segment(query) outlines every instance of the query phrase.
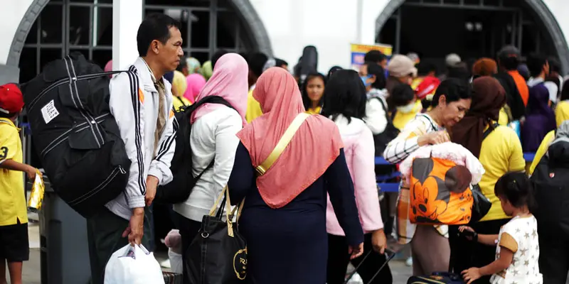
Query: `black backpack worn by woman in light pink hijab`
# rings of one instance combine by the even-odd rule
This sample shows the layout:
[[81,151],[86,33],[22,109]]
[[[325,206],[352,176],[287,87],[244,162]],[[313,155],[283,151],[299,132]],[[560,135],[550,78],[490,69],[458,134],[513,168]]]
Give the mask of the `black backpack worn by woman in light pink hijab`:
[[226,107],[233,109],[229,102],[225,101],[222,97],[208,96],[191,106],[182,107],[181,111],[176,112],[174,115],[176,149],[174,150],[174,157],[172,157],[170,165],[170,170],[174,176],[174,180],[166,185],[161,185],[158,190],[156,190],[156,202],[175,204],[186,201],[191,194],[191,190],[203,173],[206,173],[207,170],[213,167],[215,158],[211,161],[208,167],[203,170],[203,172],[201,172],[197,177],[193,177],[190,146],[190,116],[193,111],[202,104],[223,104]]

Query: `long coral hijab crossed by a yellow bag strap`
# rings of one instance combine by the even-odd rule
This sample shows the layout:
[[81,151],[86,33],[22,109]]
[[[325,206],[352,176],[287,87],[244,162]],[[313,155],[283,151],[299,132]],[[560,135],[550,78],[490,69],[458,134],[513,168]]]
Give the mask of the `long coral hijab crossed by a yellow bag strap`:
[[[292,120],[304,112],[304,105],[297,82],[280,67],[262,73],[253,97],[261,105],[263,115],[237,136],[257,167],[277,146]],[[271,208],[284,207],[324,174],[343,147],[334,121],[320,115],[310,116],[280,158],[265,175],[257,178],[262,199]]]

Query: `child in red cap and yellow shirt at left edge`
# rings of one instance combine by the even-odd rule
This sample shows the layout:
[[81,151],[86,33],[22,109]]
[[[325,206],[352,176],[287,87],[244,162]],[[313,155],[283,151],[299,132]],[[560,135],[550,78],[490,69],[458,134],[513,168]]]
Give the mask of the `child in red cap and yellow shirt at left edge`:
[[37,169],[22,163],[22,143],[14,121],[23,108],[16,84],[0,86],[0,283],[22,283],[22,263],[28,261],[28,210],[21,172],[31,180]]

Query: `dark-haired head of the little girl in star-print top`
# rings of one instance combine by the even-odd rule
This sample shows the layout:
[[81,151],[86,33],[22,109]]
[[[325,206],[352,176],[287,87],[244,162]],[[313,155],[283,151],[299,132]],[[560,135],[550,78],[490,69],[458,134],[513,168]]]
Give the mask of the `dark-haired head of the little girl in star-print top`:
[[513,172],[502,175],[496,182],[494,194],[500,200],[504,213],[512,216],[516,210],[531,210],[533,200],[533,185],[526,173]]

